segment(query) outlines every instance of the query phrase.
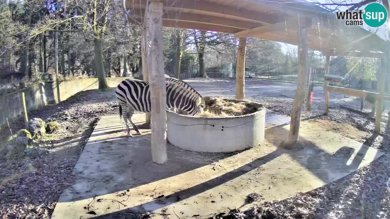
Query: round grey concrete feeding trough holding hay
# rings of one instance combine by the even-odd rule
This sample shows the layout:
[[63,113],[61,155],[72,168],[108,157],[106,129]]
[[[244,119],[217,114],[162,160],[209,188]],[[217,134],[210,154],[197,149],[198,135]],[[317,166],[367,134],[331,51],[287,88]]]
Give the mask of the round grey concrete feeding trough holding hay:
[[257,102],[250,104],[255,112],[233,117],[193,117],[167,111],[168,141],[195,152],[234,152],[260,145],[264,141],[266,109]]

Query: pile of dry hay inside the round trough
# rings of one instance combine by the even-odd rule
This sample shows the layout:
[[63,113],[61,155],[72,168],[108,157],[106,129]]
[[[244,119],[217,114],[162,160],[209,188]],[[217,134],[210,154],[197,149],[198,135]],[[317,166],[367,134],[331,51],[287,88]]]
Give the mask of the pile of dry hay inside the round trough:
[[256,112],[258,109],[252,102],[232,102],[221,97],[204,97],[206,107],[203,113],[195,117],[235,117]]

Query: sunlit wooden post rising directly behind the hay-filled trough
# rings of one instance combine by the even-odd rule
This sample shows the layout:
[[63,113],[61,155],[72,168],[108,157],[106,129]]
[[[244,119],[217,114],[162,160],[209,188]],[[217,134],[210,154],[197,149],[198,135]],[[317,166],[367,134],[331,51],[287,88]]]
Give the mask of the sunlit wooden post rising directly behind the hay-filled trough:
[[236,63],[236,99],[245,98],[245,52],[246,38],[239,39]]

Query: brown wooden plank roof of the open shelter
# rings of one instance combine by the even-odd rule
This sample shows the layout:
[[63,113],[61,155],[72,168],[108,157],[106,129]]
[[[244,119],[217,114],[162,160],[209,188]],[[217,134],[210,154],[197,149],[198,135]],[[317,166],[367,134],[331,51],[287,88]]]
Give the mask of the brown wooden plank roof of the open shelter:
[[[141,22],[147,0],[124,0],[129,21]],[[329,53],[383,51],[385,41],[303,0],[161,0],[163,26],[211,30],[297,45],[298,26],[308,28],[308,48]],[[135,22],[134,22],[135,23]],[[255,28],[255,29],[254,29]]]

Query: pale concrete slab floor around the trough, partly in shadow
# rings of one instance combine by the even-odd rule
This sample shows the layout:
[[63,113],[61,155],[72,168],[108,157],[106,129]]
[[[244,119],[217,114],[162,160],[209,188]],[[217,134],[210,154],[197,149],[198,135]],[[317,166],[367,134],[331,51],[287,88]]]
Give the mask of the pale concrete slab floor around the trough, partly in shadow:
[[[129,138],[118,115],[101,117],[61,195],[53,219],[208,217],[251,207],[246,195],[284,199],[354,172],[382,155],[374,148],[301,122],[300,150],[279,147],[289,117],[268,112],[264,145],[240,153],[198,153],[168,145],[168,164],[151,162],[144,114],[135,122],[145,135]],[[281,125],[284,124],[284,125]],[[196,133],[195,133],[196,134]],[[195,215],[195,216],[194,216]]]

